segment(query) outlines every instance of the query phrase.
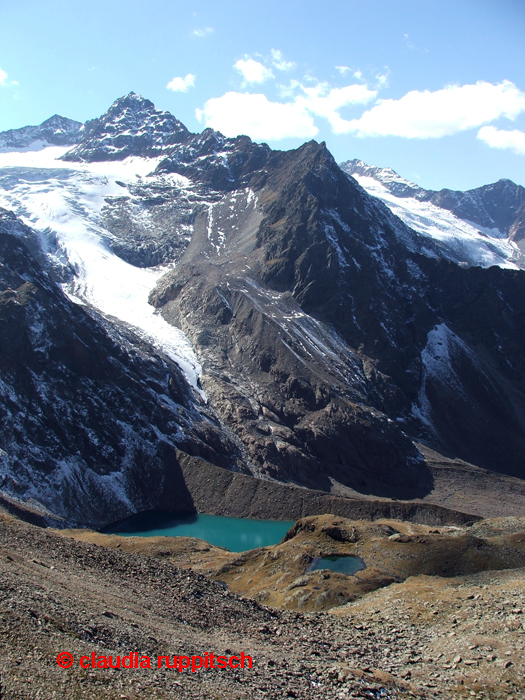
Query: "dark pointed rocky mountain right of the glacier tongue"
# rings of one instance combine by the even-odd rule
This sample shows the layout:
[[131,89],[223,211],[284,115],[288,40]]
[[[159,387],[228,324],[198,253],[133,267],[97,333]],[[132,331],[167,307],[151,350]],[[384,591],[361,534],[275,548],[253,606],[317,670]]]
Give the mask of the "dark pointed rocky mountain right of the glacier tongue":
[[[260,473],[414,497],[431,480],[410,436],[523,476],[524,274],[423,255],[323,144],[255,163],[235,147],[227,194],[151,301]],[[158,170],[186,169],[177,153]]]

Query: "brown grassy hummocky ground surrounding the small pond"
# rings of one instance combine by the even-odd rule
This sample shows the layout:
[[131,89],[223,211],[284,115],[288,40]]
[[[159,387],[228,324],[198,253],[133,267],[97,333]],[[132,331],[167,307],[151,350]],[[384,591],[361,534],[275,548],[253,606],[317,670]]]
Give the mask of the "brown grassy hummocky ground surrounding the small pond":
[[[343,605],[410,576],[453,577],[525,566],[525,519],[520,518],[436,528],[309,516],[296,523],[286,541],[240,554],[186,537],[126,538],[82,530],[69,534],[165,557],[260,603],[303,611]],[[337,555],[359,556],[366,568],[354,576],[326,570],[305,573],[314,557]]]

